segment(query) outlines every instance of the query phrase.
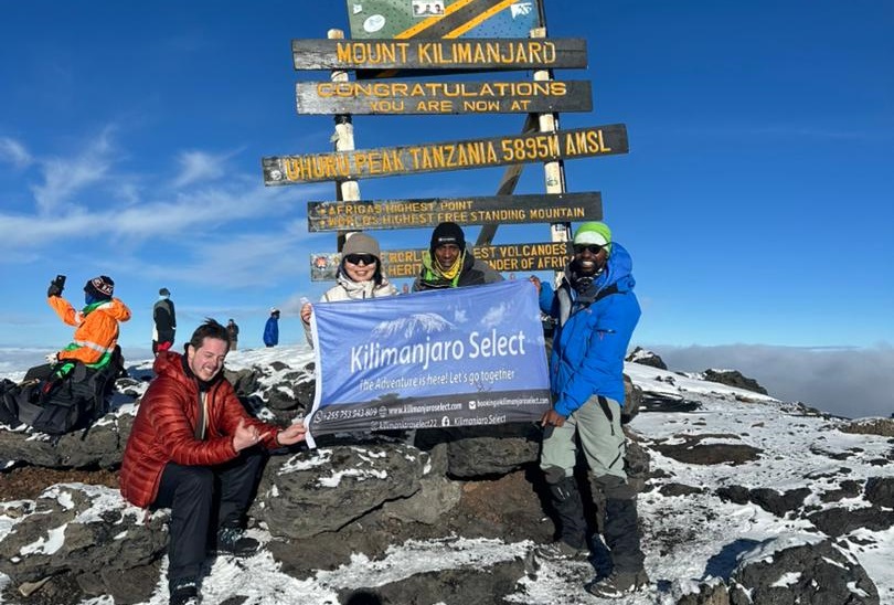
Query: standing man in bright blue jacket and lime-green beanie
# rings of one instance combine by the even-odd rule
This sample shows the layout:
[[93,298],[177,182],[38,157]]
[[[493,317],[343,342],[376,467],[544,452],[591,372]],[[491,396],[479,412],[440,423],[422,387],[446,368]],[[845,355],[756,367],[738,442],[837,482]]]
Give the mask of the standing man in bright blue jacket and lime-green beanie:
[[540,466],[561,523],[561,538],[542,549],[554,558],[587,556],[587,527],[574,478],[579,443],[593,482],[606,497],[606,544],[613,572],[586,590],[619,598],[648,584],[637,528],[636,491],[624,470],[624,358],[640,316],[634,294],[632,261],[611,242],[605,223],[583,223],[574,235],[574,257],[558,288],[531,280],[540,306],[557,320],[550,359],[553,407],[544,426]]

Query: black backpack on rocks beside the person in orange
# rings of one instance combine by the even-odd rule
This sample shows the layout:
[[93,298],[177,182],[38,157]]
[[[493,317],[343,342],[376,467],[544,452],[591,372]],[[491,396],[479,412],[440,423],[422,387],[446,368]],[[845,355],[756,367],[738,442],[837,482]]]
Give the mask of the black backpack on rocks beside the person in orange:
[[[67,371],[58,370],[49,378],[43,368],[32,368],[25,380],[12,386],[6,384],[0,405],[0,423],[19,426],[24,423],[34,431],[60,436],[84,429],[109,412],[115,379],[124,368],[124,358],[116,349],[109,363],[91,369],[79,362],[65,363]],[[7,381],[9,382],[9,381]],[[14,422],[11,422],[14,421]]]

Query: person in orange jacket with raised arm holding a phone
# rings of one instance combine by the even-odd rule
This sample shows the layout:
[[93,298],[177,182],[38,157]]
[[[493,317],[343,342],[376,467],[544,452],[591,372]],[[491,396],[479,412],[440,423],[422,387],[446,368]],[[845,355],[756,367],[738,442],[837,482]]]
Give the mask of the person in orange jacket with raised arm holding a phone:
[[[61,276],[60,276],[61,277]],[[81,361],[88,368],[102,368],[109,362],[118,343],[118,322],[130,319],[130,309],[111,295],[115,282],[100,275],[84,285],[85,306],[79,311],[62,298],[64,278],[57,277],[46,290],[50,307],[60,319],[74,326],[72,342],[63,350],[47,355],[50,363]]]

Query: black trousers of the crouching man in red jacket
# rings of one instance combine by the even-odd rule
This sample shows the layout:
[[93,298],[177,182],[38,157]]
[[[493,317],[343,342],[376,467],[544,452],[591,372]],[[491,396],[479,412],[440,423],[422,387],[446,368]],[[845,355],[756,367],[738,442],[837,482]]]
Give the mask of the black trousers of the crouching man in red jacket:
[[266,454],[255,446],[219,466],[164,465],[158,496],[150,508],[171,509],[169,583],[198,576],[209,539],[213,539],[220,528],[242,526],[265,459]]

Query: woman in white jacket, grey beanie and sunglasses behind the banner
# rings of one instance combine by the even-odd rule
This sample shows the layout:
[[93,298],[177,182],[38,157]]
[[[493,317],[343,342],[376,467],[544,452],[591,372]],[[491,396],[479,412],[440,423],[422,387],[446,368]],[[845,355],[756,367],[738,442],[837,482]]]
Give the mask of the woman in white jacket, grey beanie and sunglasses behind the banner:
[[[379,298],[397,294],[387,276],[382,272],[382,252],[379,242],[365,233],[352,233],[341,250],[341,264],[339,265],[338,284],[322,295],[320,301],[333,302],[336,300],[362,300],[364,298]],[[310,336],[310,314],[313,308],[310,302],[301,307],[301,323],[305,327],[307,341],[313,343]]]

